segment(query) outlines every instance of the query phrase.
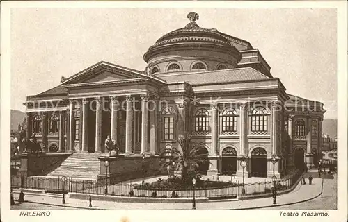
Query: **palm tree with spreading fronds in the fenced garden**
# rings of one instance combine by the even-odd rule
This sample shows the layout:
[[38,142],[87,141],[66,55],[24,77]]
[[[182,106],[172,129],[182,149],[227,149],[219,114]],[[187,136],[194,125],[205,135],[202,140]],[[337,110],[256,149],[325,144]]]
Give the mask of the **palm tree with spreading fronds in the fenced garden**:
[[[181,178],[187,181],[189,174],[198,173],[200,164],[209,162],[208,155],[203,151],[203,147],[193,146],[191,143],[192,136],[185,134],[180,136],[177,142],[181,148],[166,148],[160,155],[160,164],[162,167],[169,167],[172,161],[176,166],[181,166]],[[170,161],[171,160],[171,161]]]

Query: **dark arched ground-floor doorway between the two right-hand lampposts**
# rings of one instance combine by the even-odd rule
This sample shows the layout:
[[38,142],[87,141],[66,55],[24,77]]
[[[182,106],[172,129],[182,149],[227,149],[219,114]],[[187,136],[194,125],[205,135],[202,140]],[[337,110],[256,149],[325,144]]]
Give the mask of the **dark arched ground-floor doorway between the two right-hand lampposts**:
[[264,148],[255,148],[251,152],[251,176],[267,178],[267,152]]

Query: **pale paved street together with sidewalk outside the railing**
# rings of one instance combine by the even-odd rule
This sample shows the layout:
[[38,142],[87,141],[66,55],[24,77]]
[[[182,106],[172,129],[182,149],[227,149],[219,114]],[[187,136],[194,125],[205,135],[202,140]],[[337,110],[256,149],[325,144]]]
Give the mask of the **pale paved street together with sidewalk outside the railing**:
[[[308,180],[306,185],[297,185],[297,187],[289,194],[283,194],[277,197],[276,205],[290,204],[298,201],[307,200],[308,198],[313,198],[320,194],[322,189],[322,179],[316,178],[315,173],[313,185],[308,185]],[[308,174],[305,176],[308,178]],[[333,176],[331,176],[333,178]],[[197,203],[198,210],[240,210],[250,207],[267,207],[271,210],[296,210],[296,209],[335,209],[337,207],[336,198],[336,186],[337,178],[334,179],[324,179],[324,193],[322,196],[310,200],[305,203],[299,203],[295,205],[285,205],[275,207],[272,204],[272,198],[259,198],[253,200],[225,200],[225,201],[209,201],[208,203]],[[18,194],[15,194],[15,199],[18,198]],[[22,204],[17,204],[11,209],[40,209],[40,210],[56,210],[56,209],[79,209],[83,207],[85,209],[91,209],[88,207],[88,200],[77,200],[77,199],[66,199],[66,204],[61,203],[60,197],[52,196],[35,196],[27,194],[25,200],[32,203],[26,202]],[[17,203],[17,202],[16,202]],[[92,209],[151,209],[151,210],[189,210],[191,209],[191,203],[120,203],[114,201],[101,201],[93,200]]]

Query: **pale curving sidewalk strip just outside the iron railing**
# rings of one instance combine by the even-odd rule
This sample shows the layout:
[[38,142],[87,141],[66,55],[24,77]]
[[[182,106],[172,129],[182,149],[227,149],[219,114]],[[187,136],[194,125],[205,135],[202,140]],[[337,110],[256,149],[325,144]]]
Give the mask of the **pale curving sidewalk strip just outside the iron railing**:
[[[313,172],[306,173],[305,178],[308,178],[308,175],[313,174]],[[308,185],[308,180],[306,179],[306,185],[301,185],[301,182],[296,186],[296,188],[288,193],[277,196],[276,204],[273,204],[271,197],[268,198],[259,198],[252,200],[214,200],[207,203],[197,203],[197,210],[243,210],[243,209],[253,209],[253,208],[264,208],[264,207],[274,207],[280,205],[287,205],[292,203],[297,203],[301,201],[314,198],[319,195],[322,191],[322,178],[317,178],[313,176],[313,184]],[[14,194],[15,200],[19,197],[19,194]],[[44,205],[55,205],[61,207],[71,207],[72,209],[94,209],[94,210],[190,210],[192,203],[120,203],[113,201],[102,201],[102,200],[93,200],[93,207],[88,207],[89,202],[88,198],[86,200],[78,200],[72,198],[65,199],[65,205],[62,204],[61,196],[38,196],[26,194],[24,197],[27,203],[22,203],[26,205],[28,203],[38,204],[38,209]],[[17,203],[17,202],[16,202]],[[19,206],[17,208],[20,208]]]

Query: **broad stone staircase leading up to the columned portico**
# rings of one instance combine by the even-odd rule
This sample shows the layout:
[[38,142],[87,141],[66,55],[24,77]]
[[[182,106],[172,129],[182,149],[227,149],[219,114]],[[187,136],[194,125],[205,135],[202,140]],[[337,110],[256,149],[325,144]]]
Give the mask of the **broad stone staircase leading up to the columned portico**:
[[73,153],[47,176],[96,179],[100,173],[100,153]]

